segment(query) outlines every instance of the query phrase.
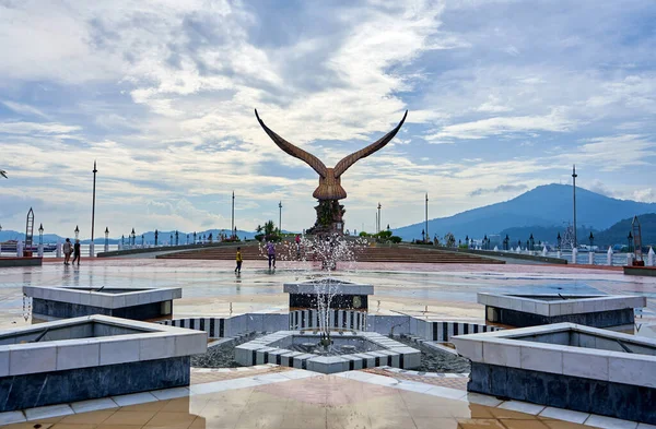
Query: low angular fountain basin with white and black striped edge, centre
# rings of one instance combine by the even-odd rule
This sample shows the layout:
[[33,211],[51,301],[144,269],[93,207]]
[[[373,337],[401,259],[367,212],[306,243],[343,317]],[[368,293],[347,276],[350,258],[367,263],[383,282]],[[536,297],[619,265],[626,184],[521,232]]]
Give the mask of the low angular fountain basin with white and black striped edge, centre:
[[[421,364],[419,350],[373,332],[332,332],[328,355],[320,354],[320,338],[319,333],[279,331],[237,346],[235,360],[244,366],[276,364],[327,374],[380,366],[410,369]],[[304,343],[317,347],[308,351]],[[341,346],[354,346],[356,353]]]

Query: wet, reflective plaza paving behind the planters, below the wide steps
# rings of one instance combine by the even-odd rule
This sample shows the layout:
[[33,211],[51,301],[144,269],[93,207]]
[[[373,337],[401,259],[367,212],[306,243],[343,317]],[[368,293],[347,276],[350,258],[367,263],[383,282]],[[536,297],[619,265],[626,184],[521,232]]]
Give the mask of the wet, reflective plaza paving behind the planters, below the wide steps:
[[[94,259],[80,266],[47,261],[39,267],[0,269],[0,329],[32,323],[22,287],[181,287],[174,318],[224,317],[245,312],[286,312],[282,284],[319,274],[312,264],[248,262],[239,276],[229,261]],[[483,322],[476,294],[617,294],[647,297],[639,334],[656,336],[656,278],[621,271],[566,265],[464,265],[349,263],[333,273],[374,285],[370,312],[411,314],[431,320]],[[25,308],[24,308],[25,307]],[[27,317],[27,320],[25,320]],[[644,331],[643,331],[644,330]]]

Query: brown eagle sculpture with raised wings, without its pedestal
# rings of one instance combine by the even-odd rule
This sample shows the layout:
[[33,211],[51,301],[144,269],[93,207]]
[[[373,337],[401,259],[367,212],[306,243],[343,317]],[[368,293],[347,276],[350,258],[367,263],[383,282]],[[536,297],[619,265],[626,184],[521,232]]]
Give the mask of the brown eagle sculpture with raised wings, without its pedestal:
[[344,157],[342,160],[337,163],[335,168],[328,168],[319,158],[314,156],[313,154],[303,151],[300,147],[294,146],[292,143],[288,142],[277,133],[274,133],[269,127],[265,124],[265,122],[260,119],[257,114],[257,109],[255,109],[255,116],[259,121],[260,126],[265,130],[267,134],[273,140],[273,143],[278,145],[281,150],[292,155],[295,158],[304,160],[307,165],[309,165],[316,172],[319,174],[319,186],[315,189],[312,194],[319,201],[327,200],[342,200],[347,198],[347,191],[341,187],[341,175],[351,167],[355,162],[362,159],[364,157],[370,156],[376,151],[383,148],[387,143],[394,139],[397,132],[401,129],[401,126],[406,121],[406,117],[408,116],[408,110],[406,110],[406,115],[403,115],[403,119],[399,122],[398,126],[387,134],[385,134],[380,140],[370,144],[368,146],[353,152],[351,155]]

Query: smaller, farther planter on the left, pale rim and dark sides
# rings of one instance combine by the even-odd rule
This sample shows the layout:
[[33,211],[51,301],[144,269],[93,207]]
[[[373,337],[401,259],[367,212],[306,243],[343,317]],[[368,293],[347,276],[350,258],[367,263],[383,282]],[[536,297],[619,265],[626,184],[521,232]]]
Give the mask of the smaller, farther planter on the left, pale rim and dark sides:
[[105,314],[151,320],[171,315],[173,300],[183,297],[183,289],[23,286],[23,294],[32,297],[33,313],[37,319]]

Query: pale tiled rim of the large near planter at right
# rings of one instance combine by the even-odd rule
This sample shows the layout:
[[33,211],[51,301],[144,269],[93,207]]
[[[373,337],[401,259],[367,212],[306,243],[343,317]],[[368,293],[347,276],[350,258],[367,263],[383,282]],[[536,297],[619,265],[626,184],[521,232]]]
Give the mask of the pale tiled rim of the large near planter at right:
[[560,332],[579,332],[656,347],[656,341],[647,337],[567,322],[459,335],[452,342],[458,354],[473,362],[656,388],[656,356],[522,339],[532,334]]

